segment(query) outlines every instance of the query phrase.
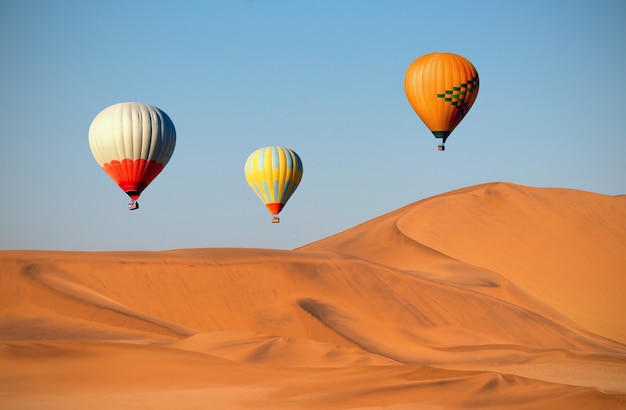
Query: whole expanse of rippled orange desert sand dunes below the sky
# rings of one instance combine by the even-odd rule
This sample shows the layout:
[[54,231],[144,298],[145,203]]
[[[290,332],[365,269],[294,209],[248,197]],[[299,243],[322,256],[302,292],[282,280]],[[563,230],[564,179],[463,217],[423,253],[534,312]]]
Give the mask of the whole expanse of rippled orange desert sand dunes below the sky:
[[489,183],[299,249],[0,252],[2,409],[625,409],[626,197]]

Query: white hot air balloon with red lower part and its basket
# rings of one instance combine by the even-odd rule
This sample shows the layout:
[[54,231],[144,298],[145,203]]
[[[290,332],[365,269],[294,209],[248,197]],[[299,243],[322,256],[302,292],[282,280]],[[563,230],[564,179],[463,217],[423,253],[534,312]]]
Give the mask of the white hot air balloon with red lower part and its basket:
[[152,105],[125,102],[102,110],[89,127],[91,153],[131,199],[128,209],[139,207],[141,192],[172,157],[176,129],[170,117]]

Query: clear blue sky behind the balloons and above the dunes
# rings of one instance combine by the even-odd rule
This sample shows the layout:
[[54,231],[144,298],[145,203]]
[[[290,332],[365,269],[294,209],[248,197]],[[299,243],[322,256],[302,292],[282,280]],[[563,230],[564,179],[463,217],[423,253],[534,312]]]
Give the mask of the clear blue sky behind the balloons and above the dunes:
[[[293,249],[418,200],[493,181],[626,194],[626,2],[0,2],[0,249]],[[406,100],[419,56],[480,75],[437,142]],[[174,155],[129,212],[88,130],[156,105]],[[252,151],[304,164],[271,216]]]

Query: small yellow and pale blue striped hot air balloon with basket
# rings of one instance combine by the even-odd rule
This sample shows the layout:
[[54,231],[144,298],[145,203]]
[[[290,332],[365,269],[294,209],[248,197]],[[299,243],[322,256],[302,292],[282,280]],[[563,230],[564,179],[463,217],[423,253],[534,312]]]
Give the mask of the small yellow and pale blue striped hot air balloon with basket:
[[302,161],[288,148],[264,147],[254,151],[245,165],[246,181],[274,216],[278,214],[302,179]]

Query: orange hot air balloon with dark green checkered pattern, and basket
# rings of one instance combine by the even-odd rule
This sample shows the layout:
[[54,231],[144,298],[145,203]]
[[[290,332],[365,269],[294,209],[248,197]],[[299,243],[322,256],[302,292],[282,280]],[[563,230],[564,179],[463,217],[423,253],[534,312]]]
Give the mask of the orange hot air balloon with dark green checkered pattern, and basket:
[[443,141],[472,108],[478,95],[478,72],[452,53],[426,54],[413,61],[404,77],[409,103],[436,138]]

